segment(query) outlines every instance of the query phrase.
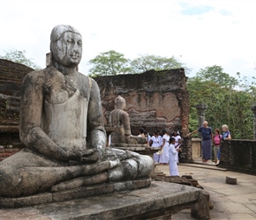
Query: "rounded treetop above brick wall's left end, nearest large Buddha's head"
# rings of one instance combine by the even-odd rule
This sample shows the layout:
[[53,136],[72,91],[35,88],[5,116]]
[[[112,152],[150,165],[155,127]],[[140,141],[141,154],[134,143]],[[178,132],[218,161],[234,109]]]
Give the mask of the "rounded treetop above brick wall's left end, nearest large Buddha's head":
[[89,61],[94,67],[89,70],[90,77],[113,76],[130,71],[129,60],[114,50],[101,53]]

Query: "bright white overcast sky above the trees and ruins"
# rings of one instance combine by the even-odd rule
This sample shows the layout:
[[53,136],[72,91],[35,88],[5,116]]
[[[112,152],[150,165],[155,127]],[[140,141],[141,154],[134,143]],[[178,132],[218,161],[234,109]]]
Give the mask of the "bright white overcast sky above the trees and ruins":
[[83,37],[79,71],[87,62],[115,50],[139,55],[175,56],[192,71],[222,66],[226,73],[252,77],[256,70],[254,0],[1,0],[0,55],[25,50],[45,67],[54,26],[70,25]]

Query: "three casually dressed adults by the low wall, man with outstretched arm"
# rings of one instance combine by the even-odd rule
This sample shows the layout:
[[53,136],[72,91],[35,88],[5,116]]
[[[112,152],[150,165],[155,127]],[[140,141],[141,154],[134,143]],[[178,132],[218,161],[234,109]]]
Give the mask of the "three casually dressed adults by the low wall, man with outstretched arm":
[[202,136],[202,161],[207,163],[212,159],[212,145],[214,145],[215,164],[218,165],[221,158],[221,143],[223,140],[230,140],[231,134],[228,125],[222,125],[222,135],[219,128],[215,128],[215,134],[213,134],[212,128],[208,127],[208,122],[204,121],[202,127],[189,133],[187,136],[200,132]]

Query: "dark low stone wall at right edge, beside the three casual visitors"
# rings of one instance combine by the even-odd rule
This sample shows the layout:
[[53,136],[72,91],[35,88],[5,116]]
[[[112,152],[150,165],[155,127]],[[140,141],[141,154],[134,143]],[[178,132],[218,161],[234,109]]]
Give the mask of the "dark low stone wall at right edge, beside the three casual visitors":
[[223,141],[219,166],[232,171],[256,174],[256,141]]

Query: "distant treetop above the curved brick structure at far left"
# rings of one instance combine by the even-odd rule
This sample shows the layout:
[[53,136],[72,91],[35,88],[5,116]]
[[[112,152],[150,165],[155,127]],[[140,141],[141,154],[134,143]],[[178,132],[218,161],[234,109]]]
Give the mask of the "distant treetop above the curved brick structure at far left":
[[1,59],[9,60],[12,62],[18,62],[20,64],[26,65],[34,70],[40,70],[41,67],[37,65],[33,59],[26,58],[25,50],[9,50],[4,51],[5,55],[0,55]]

